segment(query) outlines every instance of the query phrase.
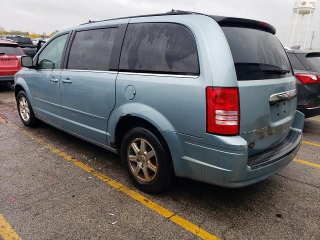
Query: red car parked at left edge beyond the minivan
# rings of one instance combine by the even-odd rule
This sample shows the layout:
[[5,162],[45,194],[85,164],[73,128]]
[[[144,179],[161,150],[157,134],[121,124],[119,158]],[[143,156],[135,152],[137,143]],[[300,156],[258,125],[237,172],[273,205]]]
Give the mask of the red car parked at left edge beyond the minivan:
[[25,55],[19,44],[8,39],[0,39],[0,83],[14,81],[14,74],[22,67],[21,56]]

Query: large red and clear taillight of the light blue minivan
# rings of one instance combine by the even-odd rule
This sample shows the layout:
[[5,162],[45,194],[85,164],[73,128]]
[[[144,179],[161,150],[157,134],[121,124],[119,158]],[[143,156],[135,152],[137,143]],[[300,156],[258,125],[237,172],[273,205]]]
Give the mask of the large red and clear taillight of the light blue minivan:
[[237,87],[206,87],[206,131],[239,134],[240,109]]

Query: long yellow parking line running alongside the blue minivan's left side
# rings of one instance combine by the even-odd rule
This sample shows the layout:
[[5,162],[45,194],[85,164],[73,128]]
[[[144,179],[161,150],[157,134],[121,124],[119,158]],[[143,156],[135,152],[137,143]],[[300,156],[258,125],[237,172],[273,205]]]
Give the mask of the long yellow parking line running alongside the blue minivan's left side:
[[[207,239],[207,240],[219,240],[219,238],[216,237],[215,235],[205,231],[204,229],[202,229],[199,226],[193,224],[192,222],[184,219],[183,217],[181,217],[179,215],[176,215],[174,212],[172,212],[172,211],[166,209],[165,207],[155,203],[154,201],[151,201],[150,199],[148,199],[145,196],[137,193],[136,191],[127,188],[123,184],[113,180],[112,178],[104,175],[103,173],[97,172],[92,167],[90,167],[88,165],[85,165],[83,162],[78,161],[74,157],[66,154],[65,152],[53,147],[50,144],[47,144],[42,139],[34,137],[30,132],[27,132],[26,130],[24,130],[24,129],[20,128],[19,126],[15,125],[14,123],[11,123],[11,122],[9,122],[7,120],[4,120],[2,117],[0,117],[0,122],[6,122],[7,124],[9,124],[14,129],[16,129],[19,132],[22,132],[23,134],[25,134],[28,137],[30,137],[33,141],[45,145],[48,149],[50,149],[55,154],[58,154],[59,156],[63,157],[64,159],[66,159],[68,161],[71,161],[74,165],[78,166],[82,170],[92,174],[93,176],[95,176],[95,177],[99,178],[100,180],[106,182],[110,186],[118,189],[119,191],[123,192],[124,194],[132,197],[133,199],[135,199],[137,201],[139,201],[140,203],[142,203],[143,205],[147,206],[151,210],[157,212],[158,214],[162,215],[165,218],[168,218],[172,222],[174,222],[177,225],[181,226],[182,228],[190,231],[191,233],[197,235],[198,237],[200,237],[202,239]],[[20,238],[17,238],[17,239],[20,239]],[[6,240],[6,238],[4,240]]]

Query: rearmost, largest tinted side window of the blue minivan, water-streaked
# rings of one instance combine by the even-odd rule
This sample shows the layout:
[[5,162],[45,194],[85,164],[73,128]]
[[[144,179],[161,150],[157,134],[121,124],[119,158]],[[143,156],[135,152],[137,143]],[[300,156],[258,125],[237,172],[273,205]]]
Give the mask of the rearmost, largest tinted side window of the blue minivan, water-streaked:
[[119,70],[169,74],[199,74],[192,33],[174,23],[128,25]]

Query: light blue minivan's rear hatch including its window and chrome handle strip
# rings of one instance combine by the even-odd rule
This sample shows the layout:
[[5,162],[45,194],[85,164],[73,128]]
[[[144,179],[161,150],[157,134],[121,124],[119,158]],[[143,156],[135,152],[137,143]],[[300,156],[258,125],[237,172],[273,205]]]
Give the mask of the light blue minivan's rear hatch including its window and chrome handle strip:
[[256,154],[279,144],[288,135],[296,109],[295,77],[270,25],[248,20],[220,26],[237,76],[239,134],[248,143],[248,155]]

